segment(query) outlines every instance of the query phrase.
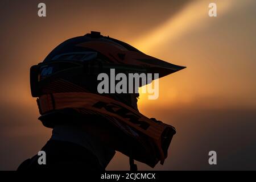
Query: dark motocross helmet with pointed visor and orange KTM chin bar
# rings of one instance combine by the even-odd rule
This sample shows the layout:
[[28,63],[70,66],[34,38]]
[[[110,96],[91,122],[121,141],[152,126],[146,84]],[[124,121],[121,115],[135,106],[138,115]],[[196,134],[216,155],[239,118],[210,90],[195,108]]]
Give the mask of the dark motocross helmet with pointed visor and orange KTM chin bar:
[[[126,141],[114,146],[115,150],[129,156],[130,164],[135,159],[155,167],[167,158],[175,128],[141,114],[131,101],[131,96],[138,95],[98,93],[97,77],[100,73],[110,75],[110,69],[115,69],[125,74],[158,73],[160,78],[184,68],[92,31],[66,40],[42,63],[31,67],[31,94],[38,97],[39,119],[44,126],[53,128],[56,123],[73,122],[74,117],[81,121],[89,117],[95,122],[104,118],[117,138]],[[140,82],[139,86],[144,84]]]

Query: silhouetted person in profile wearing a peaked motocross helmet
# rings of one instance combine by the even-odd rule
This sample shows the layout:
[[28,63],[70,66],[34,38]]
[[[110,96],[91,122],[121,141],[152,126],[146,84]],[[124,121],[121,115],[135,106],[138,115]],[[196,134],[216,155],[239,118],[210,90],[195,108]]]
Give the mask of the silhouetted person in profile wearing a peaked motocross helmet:
[[41,149],[46,152],[46,164],[39,164],[41,155],[36,154],[20,164],[18,170],[103,171],[115,151],[129,156],[131,170],[137,169],[134,159],[151,167],[159,161],[163,164],[176,131],[145,117],[137,107],[138,87],[156,78],[134,84],[135,93],[113,93],[111,83],[107,86],[110,92],[100,93],[99,74],[111,77],[110,69],[114,69],[125,75],[138,73],[137,77],[158,73],[160,78],[183,68],[100,32],[61,43],[30,69],[31,93],[38,97],[39,119],[53,129],[52,137]]

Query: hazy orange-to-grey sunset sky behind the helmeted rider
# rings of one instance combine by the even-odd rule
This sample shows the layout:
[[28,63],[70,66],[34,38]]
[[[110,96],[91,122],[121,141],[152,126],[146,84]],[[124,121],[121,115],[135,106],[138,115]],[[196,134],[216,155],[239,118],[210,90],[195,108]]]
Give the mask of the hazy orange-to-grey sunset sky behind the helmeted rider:
[[[38,3],[47,17],[38,17]],[[210,2],[217,17],[208,16]],[[16,169],[51,136],[38,121],[29,69],[59,43],[91,30],[187,69],[160,78],[139,110],[176,127],[157,170],[256,169],[256,1],[0,2],[0,169]],[[217,152],[217,165],[208,152]],[[138,163],[139,169],[151,169]],[[129,169],[115,155],[107,169]]]

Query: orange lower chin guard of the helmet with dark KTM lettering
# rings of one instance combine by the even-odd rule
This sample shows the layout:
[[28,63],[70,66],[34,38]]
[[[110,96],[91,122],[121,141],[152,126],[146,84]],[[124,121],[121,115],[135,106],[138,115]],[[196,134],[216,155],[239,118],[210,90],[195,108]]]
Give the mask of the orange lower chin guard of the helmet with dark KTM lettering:
[[[164,124],[155,119],[149,119],[122,102],[99,96],[98,94],[86,92],[45,94],[38,98],[38,106],[42,115],[64,109],[75,109],[78,113],[82,114],[80,111],[82,109],[90,111],[90,113],[102,114],[108,118],[113,118],[108,120],[118,130],[131,137],[129,145],[142,145],[139,146],[139,150],[142,150],[141,148],[144,150],[144,154],[140,154],[141,152],[137,148],[121,149],[120,152],[128,156],[132,152],[135,160],[146,163],[151,167],[154,167],[159,160],[161,164],[164,163],[171,139],[176,133],[175,128],[171,125]],[[45,123],[45,125],[54,126],[53,123]],[[117,150],[118,148],[123,148],[122,146],[115,147]]]

